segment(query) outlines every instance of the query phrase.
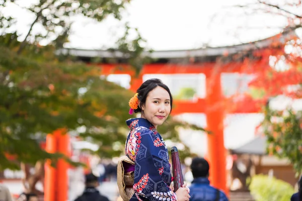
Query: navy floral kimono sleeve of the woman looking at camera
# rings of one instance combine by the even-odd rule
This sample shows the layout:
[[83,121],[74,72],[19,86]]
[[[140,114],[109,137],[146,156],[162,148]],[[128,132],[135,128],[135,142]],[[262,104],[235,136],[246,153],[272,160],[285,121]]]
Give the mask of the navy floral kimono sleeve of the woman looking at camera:
[[160,173],[161,170],[159,170],[155,164],[155,160],[163,160],[163,158],[160,157],[162,153],[165,153],[168,157],[164,144],[159,144],[156,137],[149,130],[137,133],[136,137],[137,145],[133,189],[137,198],[142,200],[143,197],[145,197],[150,201],[176,201],[176,194],[163,180]]

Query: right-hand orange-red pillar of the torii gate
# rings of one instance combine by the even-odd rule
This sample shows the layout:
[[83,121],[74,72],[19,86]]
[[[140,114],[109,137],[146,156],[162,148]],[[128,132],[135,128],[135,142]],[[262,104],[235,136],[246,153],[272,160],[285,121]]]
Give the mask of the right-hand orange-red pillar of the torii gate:
[[226,189],[225,148],[223,140],[223,107],[221,106],[220,73],[206,77],[206,120],[207,130],[212,134],[207,136],[207,158],[210,165],[211,184],[223,191]]

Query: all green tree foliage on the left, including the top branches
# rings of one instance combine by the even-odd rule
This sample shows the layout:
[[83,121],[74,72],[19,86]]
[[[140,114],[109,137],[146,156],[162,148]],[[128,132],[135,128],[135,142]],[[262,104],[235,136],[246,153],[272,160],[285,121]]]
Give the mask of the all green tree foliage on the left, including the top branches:
[[[0,1],[0,10],[12,2]],[[13,4],[18,3],[16,0]],[[19,163],[8,156],[26,164],[47,158],[68,160],[60,153],[46,152],[39,144],[47,134],[61,128],[98,144],[96,152],[101,157],[111,158],[123,152],[128,133],[125,120],[131,118],[128,100],[133,93],[108,82],[101,76],[101,66],[87,65],[56,53],[68,39],[71,26],[68,17],[81,14],[102,21],[114,15],[120,19],[125,3],[41,0],[26,8],[36,19],[22,41],[14,30],[16,21],[0,13],[0,169],[19,168]],[[32,32],[37,24],[47,32]],[[42,40],[48,40],[48,45],[41,46]],[[122,52],[127,53],[129,49],[132,63],[141,64],[144,58],[141,40],[138,35],[133,42],[126,37],[118,41]],[[134,67],[139,69],[139,65]],[[170,118],[160,132],[167,139],[178,141],[178,127],[203,130]],[[184,156],[189,154],[186,148]]]

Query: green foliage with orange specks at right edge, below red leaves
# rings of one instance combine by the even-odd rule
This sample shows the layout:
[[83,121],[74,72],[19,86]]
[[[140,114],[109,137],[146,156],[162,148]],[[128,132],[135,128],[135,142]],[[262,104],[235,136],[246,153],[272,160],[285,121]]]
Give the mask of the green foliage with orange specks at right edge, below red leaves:
[[267,136],[267,151],[287,158],[297,175],[302,173],[302,111],[273,111],[266,107],[262,123]]

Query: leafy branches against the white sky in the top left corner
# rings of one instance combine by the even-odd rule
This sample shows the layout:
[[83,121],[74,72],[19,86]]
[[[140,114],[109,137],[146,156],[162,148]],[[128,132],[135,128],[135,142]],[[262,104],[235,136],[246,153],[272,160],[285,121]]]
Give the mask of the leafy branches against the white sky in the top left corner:
[[[120,20],[121,10],[127,3],[128,1],[125,0],[40,0],[36,4],[29,3],[24,7],[21,6],[23,5],[22,0],[2,0],[0,8],[3,10],[8,4],[14,4],[35,16],[18,49],[18,53],[21,53],[27,41],[36,44],[46,41],[48,44],[55,45],[58,48],[62,47],[67,42],[72,25],[72,17],[84,16],[101,22],[108,16],[114,16]],[[13,20],[11,16],[2,17],[6,18],[7,21]],[[42,29],[35,29],[36,26],[41,26]],[[35,32],[33,32],[34,29]]]

